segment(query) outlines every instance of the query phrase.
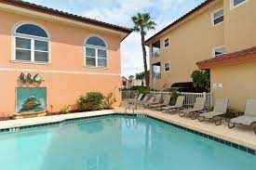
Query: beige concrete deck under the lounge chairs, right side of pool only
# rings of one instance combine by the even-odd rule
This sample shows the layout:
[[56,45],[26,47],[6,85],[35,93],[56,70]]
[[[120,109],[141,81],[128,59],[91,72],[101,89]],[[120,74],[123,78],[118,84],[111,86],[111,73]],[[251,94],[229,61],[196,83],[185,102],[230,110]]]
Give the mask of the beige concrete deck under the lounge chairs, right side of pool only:
[[[115,109],[115,112],[124,111],[124,108]],[[132,111],[128,111],[128,113],[132,113]],[[144,108],[138,108],[135,113],[149,115],[172,124],[178,124],[203,134],[222,138],[223,140],[256,150],[256,135],[254,134],[253,129],[250,127],[237,125],[235,128],[230,129],[228,128],[227,123],[215,125],[212,122],[199,122],[198,120],[191,120],[188,117],[180,117],[179,114],[168,114],[161,111],[152,111]]]

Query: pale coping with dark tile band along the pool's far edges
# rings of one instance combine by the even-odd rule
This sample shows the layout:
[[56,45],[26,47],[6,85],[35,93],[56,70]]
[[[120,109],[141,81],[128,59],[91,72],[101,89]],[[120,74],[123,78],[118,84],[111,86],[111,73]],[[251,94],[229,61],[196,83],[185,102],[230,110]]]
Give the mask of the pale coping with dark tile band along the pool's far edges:
[[[110,115],[146,116],[146,117],[161,121],[163,123],[178,127],[190,133],[194,133],[195,135],[198,135],[201,137],[207,137],[211,140],[215,140],[216,142],[223,141],[223,143],[222,142],[220,143],[228,145],[233,148],[236,148],[238,146],[238,148],[236,148],[238,150],[241,150],[239,149],[240,147],[243,149],[246,149],[246,150],[243,150],[246,152],[249,152],[247,150],[250,150],[250,151],[253,150],[254,151],[253,153],[250,153],[250,152],[249,153],[256,155],[256,146],[246,143],[245,141],[237,140],[234,137],[225,137],[225,136],[222,136],[222,134],[216,134],[211,131],[206,131],[204,129],[197,128],[195,126],[182,124],[181,122],[175,122],[173,120],[164,118],[160,115],[155,115],[150,112],[138,112],[133,114],[133,113],[126,113],[122,111],[116,111],[114,109],[114,110],[104,110],[104,111],[77,112],[77,113],[69,113],[69,114],[61,114],[61,115],[52,115],[47,117],[27,118],[27,119],[20,119],[20,120],[10,120],[10,121],[0,122],[0,133],[15,132],[20,129],[32,128],[36,126],[38,127],[38,126],[45,126],[45,125],[51,125],[51,124],[61,124],[62,122],[66,122],[66,121],[84,120],[84,119],[86,120],[88,118],[104,117],[104,116],[110,116]],[[8,124],[8,123],[12,123],[12,124]],[[234,146],[236,145],[236,147],[232,146],[233,144]]]

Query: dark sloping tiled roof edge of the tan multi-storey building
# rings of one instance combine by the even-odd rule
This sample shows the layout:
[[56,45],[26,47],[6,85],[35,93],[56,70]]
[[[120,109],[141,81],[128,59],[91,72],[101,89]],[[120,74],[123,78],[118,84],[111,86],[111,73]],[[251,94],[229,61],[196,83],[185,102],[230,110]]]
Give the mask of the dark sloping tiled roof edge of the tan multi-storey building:
[[163,30],[161,30],[158,33],[155,33],[155,35],[153,35],[152,37],[150,37],[149,39],[146,40],[146,44],[148,45],[149,41],[151,41],[152,39],[155,38],[155,36],[164,33],[165,31],[167,31],[168,29],[170,29],[171,27],[175,26],[176,24],[180,23],[182,20],[187,19],[189,16],[191,16],[192,14],[194,14],[195,12],[197,12],[198,10],[200,10],[203,7],[207,7],[211,2],[214,2],[216,0],[206,0],[204,3],[202,3],[201,5],[195,7],[194,9],[192,9],[191,11],[189,11],[188,13],[186,13],[185,15],[182,16],[182,18],[175,20],[174,22],[170,23],[166,28],[164,28]]

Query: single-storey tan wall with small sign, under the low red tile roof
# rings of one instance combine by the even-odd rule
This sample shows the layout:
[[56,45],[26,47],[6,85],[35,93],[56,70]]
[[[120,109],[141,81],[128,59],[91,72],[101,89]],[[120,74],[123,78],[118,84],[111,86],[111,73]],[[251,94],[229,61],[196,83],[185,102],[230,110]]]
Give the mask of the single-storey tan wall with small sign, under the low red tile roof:
[[[246,101],[256,98],[256,62],[211,69],[211,88],[214,98],[230,98],[229,108],[244,111]],[[213,84],[222,84],[214,89]]]

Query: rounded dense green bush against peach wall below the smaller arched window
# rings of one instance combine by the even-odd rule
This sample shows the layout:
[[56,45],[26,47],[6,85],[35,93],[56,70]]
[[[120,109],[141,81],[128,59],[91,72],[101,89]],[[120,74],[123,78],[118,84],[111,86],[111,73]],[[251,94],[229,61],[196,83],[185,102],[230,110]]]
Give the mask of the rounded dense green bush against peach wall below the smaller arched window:
[[104,109],[104,96],[100,92],[90,92],[77,100],[80,111],[100,111]]

